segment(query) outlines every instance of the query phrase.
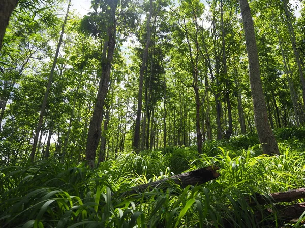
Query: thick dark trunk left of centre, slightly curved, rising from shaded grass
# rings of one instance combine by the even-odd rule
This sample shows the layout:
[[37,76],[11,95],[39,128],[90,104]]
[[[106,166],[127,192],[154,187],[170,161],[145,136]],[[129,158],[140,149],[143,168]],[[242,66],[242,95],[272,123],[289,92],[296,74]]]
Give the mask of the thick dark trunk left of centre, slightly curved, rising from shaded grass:
[[[112,66],[112,59],[115,50],[115,38],[116,38],[116,18],[115,11],[118,0],[109,2],[109,24],[107,25],[107,59],[102,63],[102,74],[99,83],[99,91],[97,95],[96,104],[93,110],[92,119],[89,125],[87,143],[86,143],[86,161],[90,167],[94,167],[96,159],[96,151],[99,145],[99,141],[102,133],[102,120],[104,112],[105,99],[109,90],[110,73]],[[105,49],[104,49],[105,50]]]

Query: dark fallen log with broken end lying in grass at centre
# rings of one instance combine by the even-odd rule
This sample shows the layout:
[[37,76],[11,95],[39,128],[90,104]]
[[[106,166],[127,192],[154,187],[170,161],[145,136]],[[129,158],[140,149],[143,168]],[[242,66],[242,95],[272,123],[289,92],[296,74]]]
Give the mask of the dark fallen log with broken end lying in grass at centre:
[[122,193],[122,196],[130,196],[133,194],[143,193],[149,189],[159,188],[166,189],[172,184],[177,184],[182,188],[185,188],[188,185],[201,185],[210,180],[214,180],[220,176],[219,173],[216,172],[219,167],[216,166],[208,166],[201,169],[196,169],[190,172],[181,173],[166,179],[158,180],[155,182],[139,185],[136,187],[130,188],[128,191]]

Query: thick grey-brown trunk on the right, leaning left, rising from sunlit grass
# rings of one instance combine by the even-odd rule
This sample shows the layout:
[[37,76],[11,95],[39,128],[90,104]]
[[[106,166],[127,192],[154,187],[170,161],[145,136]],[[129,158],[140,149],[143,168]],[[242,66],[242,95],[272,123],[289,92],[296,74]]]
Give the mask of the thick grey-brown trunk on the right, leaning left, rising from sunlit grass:
[[268,122],[267,107],[260,78],[259,59],[256,46],[255,32],[248,0],[239,0],[243,30],[246,37],[246,48],[249,59],[249,77],[253,97],[255,124],[263,153],[279,154],[276,139]]

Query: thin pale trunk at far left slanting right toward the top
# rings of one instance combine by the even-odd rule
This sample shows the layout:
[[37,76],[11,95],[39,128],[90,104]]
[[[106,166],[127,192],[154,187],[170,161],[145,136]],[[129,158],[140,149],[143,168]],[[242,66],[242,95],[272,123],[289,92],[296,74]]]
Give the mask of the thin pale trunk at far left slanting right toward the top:
[[30,159],[31,159],[32,162],[34,161],[34,157],[35,157],[35,153],[36,153],[36,146],[37,146],[37,142],[38,142],[39,133],[40,133],[40,130],[41,130],[41,127],[42,127],[42,122],[43,122],[44,112],[45,112],[46,105],[47,105],[48,96],[49,96],[51,85],[52,85],[52,80],[53,80],[55,66],[56,66],[56,63],[57,63],[59,49],[60,49],[60,46],[62,45],[62,42],[63,42],[63,35],[64,35],[64,32],[65,32],[65,25],[66,25],[67,19],[68,19],[70,4],[71,4],[71,0],[69,0],[69,3],[68,3],[66,16],[65,16],[65,19],[64,19],[64,23],[62,25],[62,31],[60,32],[60,37],[59,37],[59,41],[58,41],[58,44],[57,44],[57,49],[56,49],[55,57],[54,57],[54,60],[53,60],[53,65],[52,65],[50,75],[49,75],[48,85],[47,85],[46,92],[45,92],[45,95],[44,95],[44,98],[43,98],[43,101],[42,101],[42,105],[41,105],[41,109],[40,109],[39,121],[38,121],[37,129],[36,129],[36,133],[35,133],[35,137],[34,137],[34,142],[33,142],[33,146],[32,146],[32,152],[31,152],[31,156],[30,156]]

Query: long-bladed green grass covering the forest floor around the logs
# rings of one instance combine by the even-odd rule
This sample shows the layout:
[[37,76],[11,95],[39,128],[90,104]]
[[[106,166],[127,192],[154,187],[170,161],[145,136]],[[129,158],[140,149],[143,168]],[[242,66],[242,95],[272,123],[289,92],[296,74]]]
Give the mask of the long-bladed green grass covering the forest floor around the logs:
[[[253,137],[252,135],[250,137]],[[260,155],[247,136],[195,148],[122,153],[90,170],[84,164],[39,161],[0,167],[1,227],[282,227],[276,215],[259,223],[246,197],[303,187],[305,146],[279,143],[280,155]],[[245,148],[247,147],[247,148]],[[123,197],[128,188],[209,165],[221,176],[200,186]],[[255,201],[255,197],[252,198]],[[301,227],[300,223],[289,226]]]

